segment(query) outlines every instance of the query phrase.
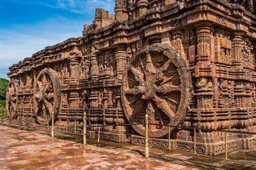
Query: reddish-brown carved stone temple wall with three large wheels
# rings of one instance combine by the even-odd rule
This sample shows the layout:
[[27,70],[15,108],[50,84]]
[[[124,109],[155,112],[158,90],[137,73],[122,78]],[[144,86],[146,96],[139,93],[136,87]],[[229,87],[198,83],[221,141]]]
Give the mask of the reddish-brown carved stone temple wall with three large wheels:
[[[143,123],[153,146],[167,148],[168,128],[197,132],[198,153],[223,153],[224,134],[256,131],[256,15],[253,0],[116,0],[115,15],[97,9],[83,36],[10,66],[6,106],[29,121],[83,125]],[[144,127],[105,127],[102,138],[143,143]],[[171,128],[172,148],[193,151],[193,132]],[[92,130],[92,136],[94,131]],[[228,150],[256,137],[228,134]]]

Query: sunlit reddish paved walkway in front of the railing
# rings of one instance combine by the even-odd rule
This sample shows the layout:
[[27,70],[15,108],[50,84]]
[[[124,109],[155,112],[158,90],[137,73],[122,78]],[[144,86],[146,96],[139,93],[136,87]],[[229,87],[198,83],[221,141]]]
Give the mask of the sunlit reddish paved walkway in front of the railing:
[[99,148],[0,127],[0,169],[196,169],[127,150]]

